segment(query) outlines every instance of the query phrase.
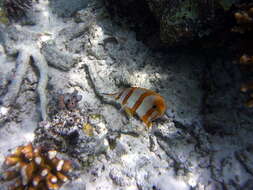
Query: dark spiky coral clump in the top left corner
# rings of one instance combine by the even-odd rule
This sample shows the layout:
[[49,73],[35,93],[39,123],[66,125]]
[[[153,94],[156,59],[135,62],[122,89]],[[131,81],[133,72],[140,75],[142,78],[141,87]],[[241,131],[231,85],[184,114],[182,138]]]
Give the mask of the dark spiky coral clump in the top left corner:
[[32,7],[32,0],[4,0],[3,7],[10,20],[18,20]]

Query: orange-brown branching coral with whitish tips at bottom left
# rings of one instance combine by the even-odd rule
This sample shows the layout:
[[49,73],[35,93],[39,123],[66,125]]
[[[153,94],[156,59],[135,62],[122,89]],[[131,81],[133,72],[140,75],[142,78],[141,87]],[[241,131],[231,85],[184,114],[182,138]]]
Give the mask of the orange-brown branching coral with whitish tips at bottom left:
[[56,150],[34,147],[32,143],[19,146],[6,156],[1,178],[9,190],[53,190],[67,182],[72,170],[69,160],[59,159]]

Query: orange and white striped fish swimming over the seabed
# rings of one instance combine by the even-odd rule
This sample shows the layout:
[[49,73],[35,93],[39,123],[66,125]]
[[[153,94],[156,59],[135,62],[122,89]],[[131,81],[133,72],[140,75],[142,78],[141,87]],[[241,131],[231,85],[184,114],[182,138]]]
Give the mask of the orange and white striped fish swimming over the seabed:
[[147,127],[152,121],[161,117],[166,111],[166,102],[158,93],[140,87],[130,87],[110,95],[118,101],[125,111],[133,116],[137,115]]

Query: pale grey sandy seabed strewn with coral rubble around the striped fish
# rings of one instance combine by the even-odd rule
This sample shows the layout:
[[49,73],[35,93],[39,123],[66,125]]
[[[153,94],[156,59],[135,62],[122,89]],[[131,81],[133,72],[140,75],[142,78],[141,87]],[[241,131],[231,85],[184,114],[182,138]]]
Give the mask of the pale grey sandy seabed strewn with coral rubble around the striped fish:
[[[0,165],[15,155],[10,150],[32,142],[33,151],[22,152],[31,145],[20,148],[29,167],[36,147],[47,148],[46,161],[55,150],[59,160],[73,162],[74,177],[66,174],[62,190],[252,189],[252,113],[238,106],[244,98],[238,96],[240,81],[235,82],[240,71],[225,56],[207,60],[199,52],[154,52],[115,24],[99,0],[70,19],[55,16],[54,4],[45,2],[33,7],[34,25],[0,25],[6,34],[0,34]],[[51,42],[57,51],[42,45]],[[163,95],[172,118],[145,130],[101,96],[129,84]],[[55,166],[55,177],[43,179],[44,185],[66,181]],[[5,171],[1,167],[0,173]],[[0,183],[0,189],[8,185]]]

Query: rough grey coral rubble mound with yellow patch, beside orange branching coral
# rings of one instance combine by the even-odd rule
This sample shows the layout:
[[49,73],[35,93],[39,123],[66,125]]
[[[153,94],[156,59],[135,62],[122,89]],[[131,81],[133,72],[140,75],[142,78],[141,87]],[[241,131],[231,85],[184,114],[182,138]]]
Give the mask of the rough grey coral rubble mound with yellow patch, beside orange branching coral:
[[[104,118],[90,108],[78,108],[81,95],[59,94],[58,103],[49,103],[49,121],[42,121],[35,131],[35,143],[66,152],[85,162],[106,150],[107,129]],[[52,101],[55,101],[52,99]]]

